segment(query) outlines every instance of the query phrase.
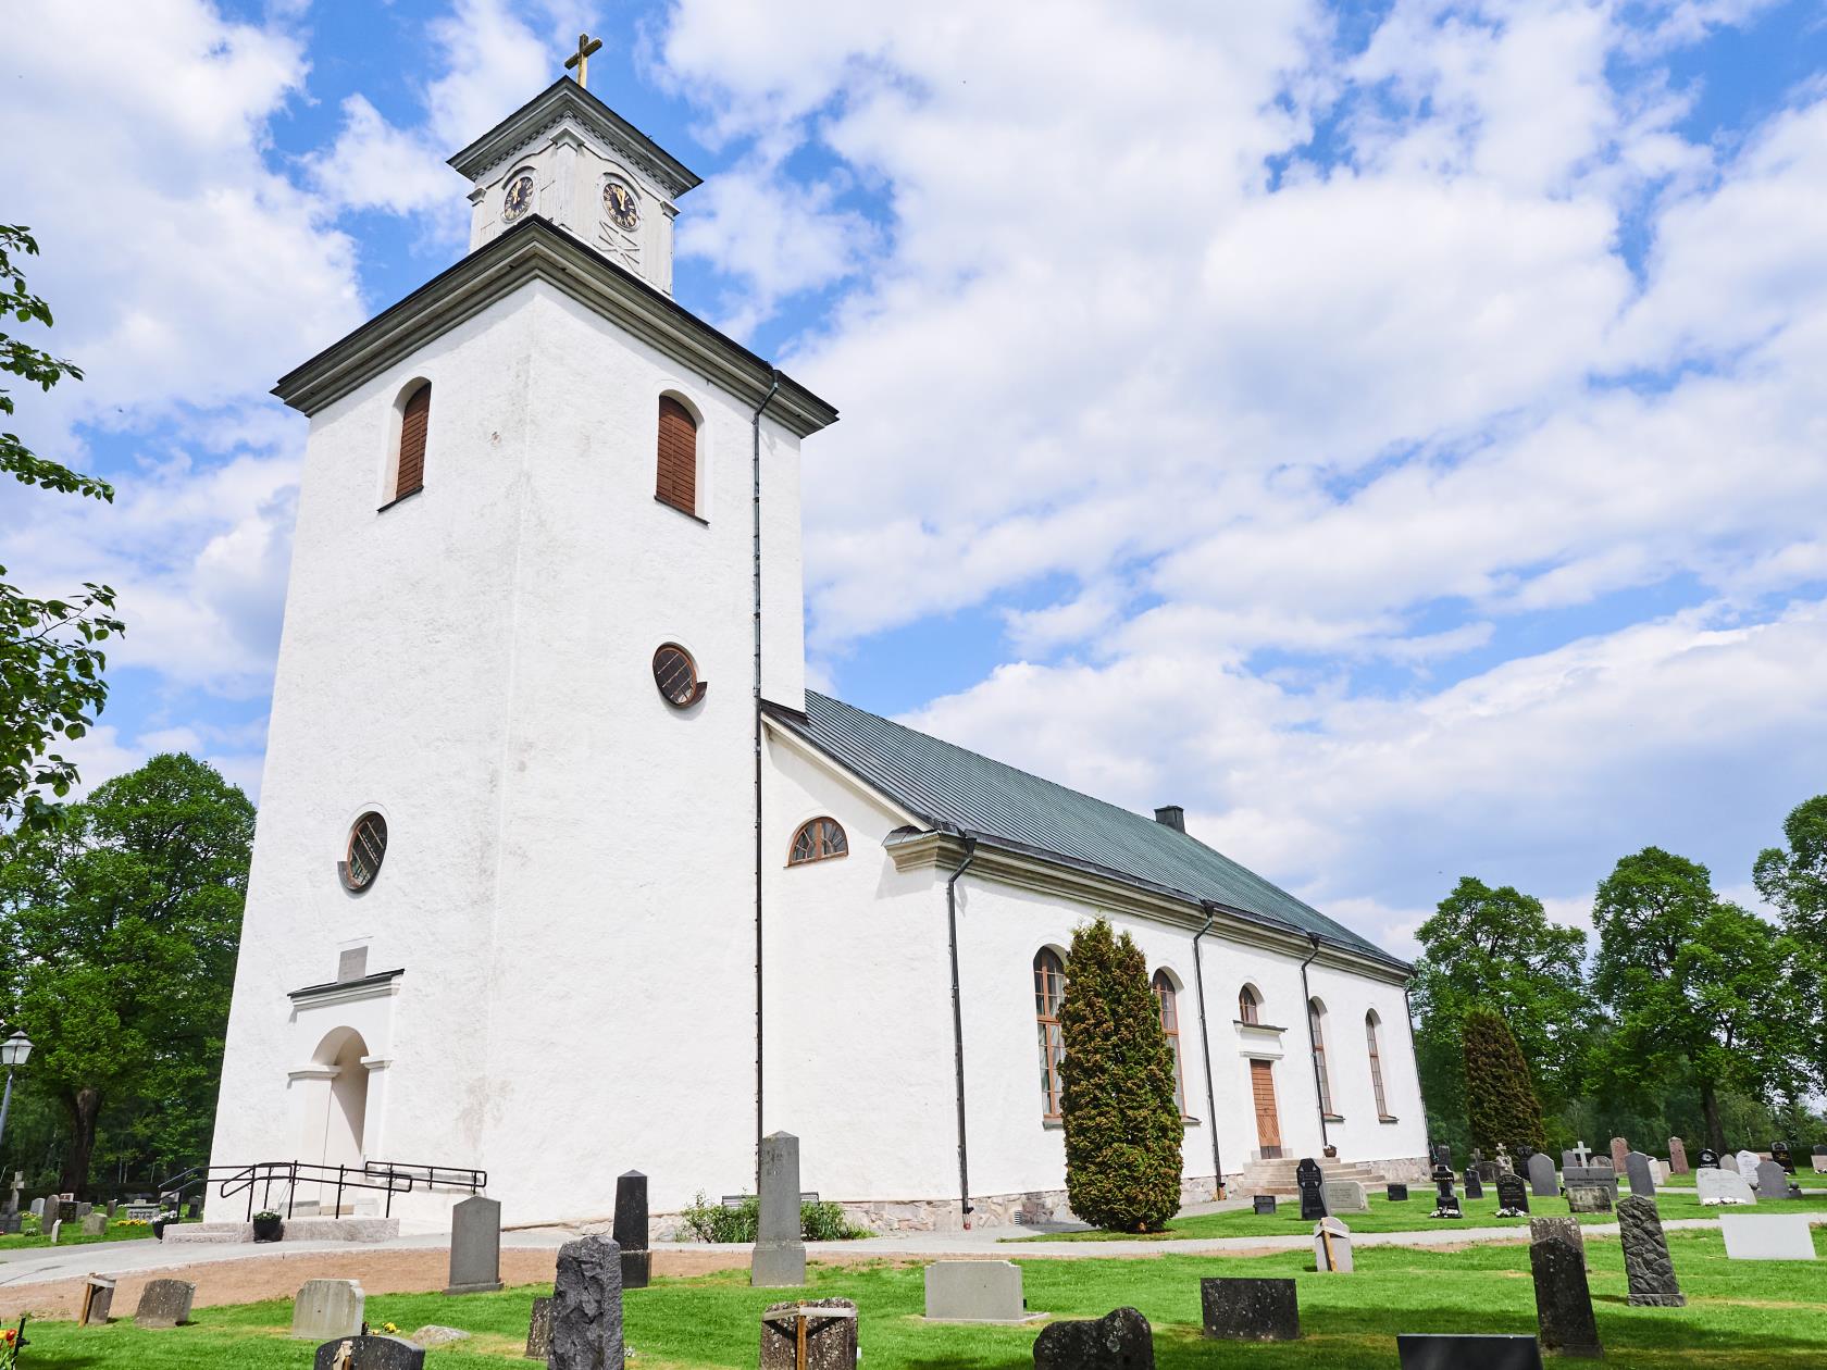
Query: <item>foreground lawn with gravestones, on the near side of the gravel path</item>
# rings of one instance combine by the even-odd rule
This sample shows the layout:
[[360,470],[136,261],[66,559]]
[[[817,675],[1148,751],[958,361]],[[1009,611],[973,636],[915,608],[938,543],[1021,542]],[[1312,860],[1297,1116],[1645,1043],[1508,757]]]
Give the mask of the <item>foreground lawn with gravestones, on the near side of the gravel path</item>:
[[[1588,1244],[1593,1304],[1611,1370],[1818,1370],[1827,1365],[1827,1262],[1728,1262],[1717,1233],[1670,1233],[1686,1308],[1630,1308],[1615,1240]],[[1270,1257],[1155,1257],[1138,1260],[1023,1262],[1030,1308],[1093,1317],[1131,1304],[1155,1326],[1164,1370],[1357,1370],[1396,1365],[1398,1332],[1535,1332],[1535,1286],[1524,1246],[1463,1251],[1363,1248],[1357,1273],[1315,1275],[1312,1253]],[[1202,1275],[1292,1275],[1299,1280],[1304,1337],[1286,1344],[1222,1346],[1199,1335]],[[369,1317],[404,1332],[444,1323],[473,1341],[433,1350],[428,1365],[526,1365],[521,1359],[535,1293],[519,1288],[448,1299],[375,1295]],[[1034,1326],[961,1328],[921,1321],[919,1266],[813,1266],[808,1297],[842,1295],[861,1306],[862,1363],[882,1370],[1027,1370]],[[660,1280],[627,1295],[627,1339],[641,1370],[755,1365],[758,1313],[780,1291],[749,1290],[740,1273]],[[287,1302],[206,1308],[197,1324],[141,1332],[130,1323],[27,1328],[26,1365],[79,1370],[301,1370],[312,1346],[285,1337]]]

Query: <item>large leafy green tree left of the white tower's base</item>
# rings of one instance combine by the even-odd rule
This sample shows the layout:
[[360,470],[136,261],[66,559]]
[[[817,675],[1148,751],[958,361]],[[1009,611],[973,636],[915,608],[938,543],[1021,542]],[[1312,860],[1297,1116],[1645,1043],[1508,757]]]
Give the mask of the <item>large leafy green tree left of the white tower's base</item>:
[[62,1189],[104,1116],[141,1173],[206,1153],[252,838],[248,798],[179,754],[0,838],[0,1017],[37,1043],[22,1092],[62,1107]]

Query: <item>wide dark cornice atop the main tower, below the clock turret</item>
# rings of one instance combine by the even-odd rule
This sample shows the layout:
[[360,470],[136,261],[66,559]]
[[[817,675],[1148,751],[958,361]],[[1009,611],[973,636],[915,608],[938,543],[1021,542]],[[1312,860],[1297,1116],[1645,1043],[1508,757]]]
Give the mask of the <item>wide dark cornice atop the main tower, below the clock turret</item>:
[[[532,281],[557,287],[749,406],[760,406],[778,374],[663,290],[532,216],[281,376],[272,393],[314,415]],[[797,437],[837,422],[835,407],[786,374],[767,415]]]

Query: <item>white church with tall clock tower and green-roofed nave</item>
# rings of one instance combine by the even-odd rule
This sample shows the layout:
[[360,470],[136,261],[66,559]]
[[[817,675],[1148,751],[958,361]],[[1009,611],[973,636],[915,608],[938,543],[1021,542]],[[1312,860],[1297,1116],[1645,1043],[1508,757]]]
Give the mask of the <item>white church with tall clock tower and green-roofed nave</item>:
[[639,1169],[669,1213],[775,1131],[875,1226],[1052,1213],[1098,915],[1155,977],[1189,1200],[1326,1147],[1425,1173],[1405,963],[1177,807],[806,689],[837,409],[672,300],[698,177],[572,80],[451,166],[468,256],[274,391],[311,427],[210,1217],[261,1162],[486,1171],[508,1224]]

